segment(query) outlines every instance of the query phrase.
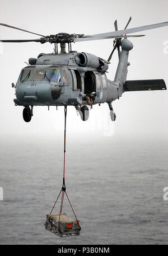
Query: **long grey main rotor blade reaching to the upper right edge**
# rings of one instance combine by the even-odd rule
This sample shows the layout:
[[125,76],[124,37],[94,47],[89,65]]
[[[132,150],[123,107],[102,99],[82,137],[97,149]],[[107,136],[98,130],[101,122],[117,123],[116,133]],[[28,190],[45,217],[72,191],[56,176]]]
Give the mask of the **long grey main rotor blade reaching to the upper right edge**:
[[[75,38],[74,42],[117,38],[117,36],[119,38],[121,38],[122,37],[121,35],[123,35],[123,34],[130,34],[130,33],[141,32],[141,31],[149,30],[149,29],[161,28],[162,26],[168,26],[168,22],[157,23],[157,24],[146,25],[146,26],[138,26],[138,27],[132,28],[132,29],[124,29],[124,30],[118,30],[118,31],[108,32],[108,33],[88,35],[88,36],[84,36],[81,38]],[[128,35],[127,35],[127,37],[128,37]]]

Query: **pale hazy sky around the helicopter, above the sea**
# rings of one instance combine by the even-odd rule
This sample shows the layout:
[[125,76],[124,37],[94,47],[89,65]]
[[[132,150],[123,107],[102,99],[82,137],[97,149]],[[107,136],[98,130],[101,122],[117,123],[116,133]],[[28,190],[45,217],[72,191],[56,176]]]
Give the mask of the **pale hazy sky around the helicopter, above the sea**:
[[[126,4],[125,4],[126,3]],[[167,21],[167,1],[2,1],[0,0],[0,23],[24,28],[35,33],[49,35],[59,32],[96,34],[114,31],[114,21],[118,19],[119,29],[123,29],[130,16],[129,28]],[[164,79],[168,84],[167,60],[168,27],[143,32],[146,37],[130,39],[134,48],[130,51],[127,79]],[[138,33],[137,33],[138,34]],[[0,39],[32,39],[36,35],[0,26]],[[2,46],[1,46],[2,47]],[[113,39],[80,42],[72,45],[72,50],[93,53],[108,59],[113,47]],[[2,50],[2,48],[0,49]],[[30,134],[55,134],[63,132],[63,107],[34,107],[30,123],[22,119],[23,107],[15,106],[15,90],[11,83],[17,81],[21,69],[30,57],[39,53],[53,52],[53,45],[40,43],[6,43],[0,54],[1,66],[1,131],[0,136]],[[109,66],[108,78],[113,80],[118,64],[117,52]],[[74,107],[68,107],[69,134],[100,133],[102,136],[158,136],[168,138],[167,131],[167,91],[125,92],[113,103],[116,121],[109,116],[107,104],[94,106],[90,119],[82,122]]]

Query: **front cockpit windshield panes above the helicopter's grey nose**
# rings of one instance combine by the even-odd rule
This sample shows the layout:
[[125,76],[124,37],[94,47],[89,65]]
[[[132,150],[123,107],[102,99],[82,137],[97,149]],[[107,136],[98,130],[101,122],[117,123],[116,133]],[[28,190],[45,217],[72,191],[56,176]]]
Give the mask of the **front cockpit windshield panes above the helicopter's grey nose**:
[[22,71],[20,81],[35,82],[35,81],[49,81],[60,83],[61,70],[58,69],[24,69]]

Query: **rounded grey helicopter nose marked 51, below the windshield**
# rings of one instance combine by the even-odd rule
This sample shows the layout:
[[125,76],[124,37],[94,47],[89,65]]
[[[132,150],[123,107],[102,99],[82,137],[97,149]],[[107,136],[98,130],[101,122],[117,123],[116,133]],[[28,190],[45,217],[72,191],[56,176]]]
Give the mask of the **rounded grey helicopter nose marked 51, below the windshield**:
[[16,97],[23,105],[50,104],[60,96],[60,87],[49,83],[21,83],[17,86]]

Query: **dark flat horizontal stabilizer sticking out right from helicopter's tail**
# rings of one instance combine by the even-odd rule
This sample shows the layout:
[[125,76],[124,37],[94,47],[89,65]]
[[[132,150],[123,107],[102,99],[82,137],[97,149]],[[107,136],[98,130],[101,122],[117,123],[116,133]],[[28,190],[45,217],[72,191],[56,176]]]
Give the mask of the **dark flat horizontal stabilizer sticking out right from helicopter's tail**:
[[153,91],[153,90],[166,90],[164,79],[152,80],[126,80],[124,83],[124,91]]

